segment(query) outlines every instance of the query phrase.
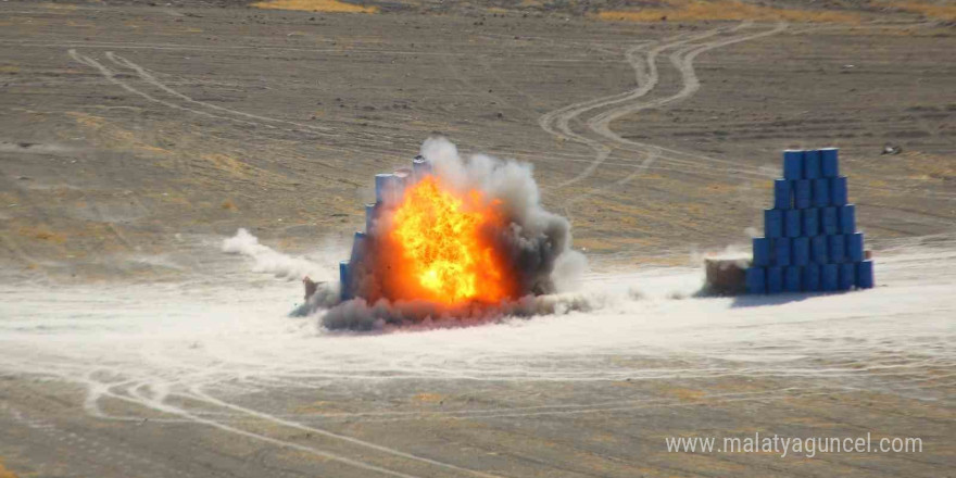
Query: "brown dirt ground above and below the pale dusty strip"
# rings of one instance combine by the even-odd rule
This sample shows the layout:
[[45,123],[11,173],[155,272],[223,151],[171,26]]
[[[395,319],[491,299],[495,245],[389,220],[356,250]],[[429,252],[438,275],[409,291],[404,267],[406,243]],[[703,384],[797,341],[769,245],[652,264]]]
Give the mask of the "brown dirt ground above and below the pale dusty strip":
[[[598,269],[692,265],[700,251],[745,246],[790,147],[841,148],[859,227],[878,254],[956,232],[956,29],[945,5],[844,2],[832,11],[846,16],[804,22],[798,2],[780,2],[779,11],[744,9],[740,20],[647,23],[577,2],[453,3],[362,4],[373,13],[0,3],[2,281],[37,285],[55,300],[61,287],[216,280],[210,244],[240,227],[292,253],[344,242],[363,224],[373,175],[406,165],[430,135],[532,163],[543,202],[570,218],[575,248]],[[883,154],[888,144],[902,152]],[[952,370],[935,364],[926,374]],[[243,414],[224,425],[237,433],[159,412],[103,420],[85,412],[81,388],[3,372],[4,478],[939,477],[956,467],[952,383],[935,401],[872,386],[822,399],[744,397],[741,406],[717,397],[821,385],[745,373],[334,382],[320,400],[288,386],[236,403],[275,416],[314,405],[399,419],[332,413],[303,428]],[[356,402],[322,405],[342,397]],[[618,401],[630,408],[466,416],[503,404],[553,412],[555,403]],[[111,406],[136,414],[122,401]],[[466,412],[443,415],[448,407]],[[839,436],[878,424],[938,445],[916,457],[803,461],[676,457],[662,445],[674,433],[770,424]],[[364,465],[310,452],[316,446]]]

